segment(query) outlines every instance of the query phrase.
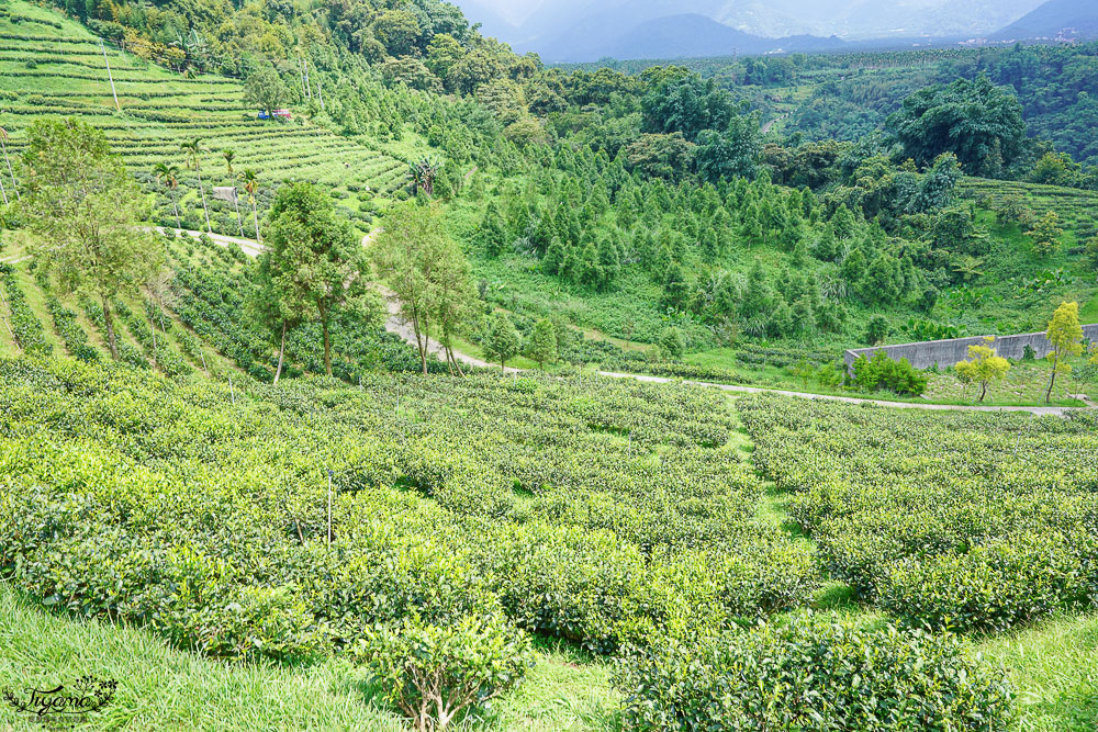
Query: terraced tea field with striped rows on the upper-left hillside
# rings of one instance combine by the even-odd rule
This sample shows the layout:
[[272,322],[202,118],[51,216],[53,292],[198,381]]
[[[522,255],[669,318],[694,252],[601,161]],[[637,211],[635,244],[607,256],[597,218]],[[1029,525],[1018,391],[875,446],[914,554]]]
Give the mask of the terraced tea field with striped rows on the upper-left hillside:
[[[87,29],[23,2],[0,11],[0,126],[11,135],[9,150],[21,151],[35,117],[78,116],[103,129],[136,174],[150,173],[157,162],[178,165],[184,211],[197,201],[198,181],[186,169],[180,144],[195,137],[206,148],[200,167],[208,199],[209,187],[233,182],[224,149],[235,153],[236,171],[259,171],[265,187],[307,178],[332,187],[339,198],[365,203],[404,184],[405,162],[366,138],[341,137],[301,114],[288,122],[257,120],[238,80],[186,78],[113,48],[105,56],[121,111],[104,50]],[[170,205],[167,210],[170,215]],[[215,230],[225,228],[226,217],[214,218]],[[235,232],[232,222],[225,234]]]

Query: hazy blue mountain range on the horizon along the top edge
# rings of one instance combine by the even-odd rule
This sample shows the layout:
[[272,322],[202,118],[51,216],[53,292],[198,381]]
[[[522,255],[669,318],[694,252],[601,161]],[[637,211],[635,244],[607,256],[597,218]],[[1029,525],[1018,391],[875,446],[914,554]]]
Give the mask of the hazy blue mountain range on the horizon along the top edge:
[[[819,50],[841,41],[983,37],[1042,0],[456,0],[547,61]],[[1062,3],[1065,0],[1053,0]],[[1085,5],[1086,0],[1066,0]],[[1096,0],[1090,0],[1094,4]],[[1049,4],[1053,4],[1050,2]],[[841,40],[841,41],[840,41]]]

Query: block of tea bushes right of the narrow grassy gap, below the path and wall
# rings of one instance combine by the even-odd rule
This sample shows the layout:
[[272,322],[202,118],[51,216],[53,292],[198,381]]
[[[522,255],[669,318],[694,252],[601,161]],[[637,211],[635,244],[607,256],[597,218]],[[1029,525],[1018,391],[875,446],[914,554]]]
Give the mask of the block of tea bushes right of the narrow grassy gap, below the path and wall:
[[828,573],[905,623],[1002,631],[1098,600],[1098,429],[1065,418],[740,401]]

